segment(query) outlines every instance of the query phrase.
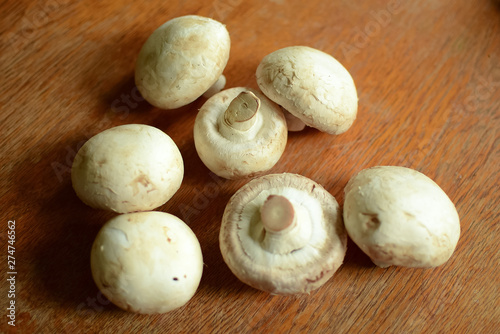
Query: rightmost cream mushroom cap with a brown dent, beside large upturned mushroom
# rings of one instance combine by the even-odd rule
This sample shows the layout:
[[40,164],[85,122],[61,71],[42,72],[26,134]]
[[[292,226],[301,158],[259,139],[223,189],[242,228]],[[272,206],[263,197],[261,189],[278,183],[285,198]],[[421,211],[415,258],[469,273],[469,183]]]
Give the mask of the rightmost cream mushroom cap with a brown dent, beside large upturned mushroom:
[[458,213],[446,193],[424,174],[399,166],[368,168],[349,180],[344,223],[380,267],[439,266],[460,236]]

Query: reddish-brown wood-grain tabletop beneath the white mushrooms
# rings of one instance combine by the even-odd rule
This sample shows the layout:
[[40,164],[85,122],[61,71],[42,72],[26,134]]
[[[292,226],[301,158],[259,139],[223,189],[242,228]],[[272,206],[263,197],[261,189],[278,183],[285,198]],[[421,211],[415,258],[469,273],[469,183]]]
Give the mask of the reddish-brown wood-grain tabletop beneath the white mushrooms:
[[[492,0],[3,1],[0,5],[0,332],[498,333],[500,7]],[[434,179],[456,204],[461,238],[435,269],[376,268],[352,242],[344,265],[310,295],[271,296],[239,282],[219,252],[221,216],[247,180],[211,176],[192,128],[205,101],[162,111],[134,88],[149,34],[176,16],[227,25],[227,87],[257,88],[266,54],[308,45],[352,74],[359,113],[345,134],[289,136],[270,172],[305,175],[343,203],[357,171],[401,165]],[[112,126],[144,123],[180,148],[185,177],[159,208],[198,236],[199,290],[164,315],[126,313],[98,292],[89,253],[114,216],[74,194],[80,145]],[[16,326],[7,324],[7,224],[16,222]]]

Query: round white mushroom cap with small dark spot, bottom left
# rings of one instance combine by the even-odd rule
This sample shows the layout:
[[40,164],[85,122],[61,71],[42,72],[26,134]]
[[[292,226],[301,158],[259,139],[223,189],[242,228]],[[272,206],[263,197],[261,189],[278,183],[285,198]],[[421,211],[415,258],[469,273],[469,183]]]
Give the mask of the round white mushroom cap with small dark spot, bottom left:
[[99,290],[116,306],[142,314],[165,313],[186,304],[203,271],[196,235],[165,212],[111,219],[99,231],[90,258]]

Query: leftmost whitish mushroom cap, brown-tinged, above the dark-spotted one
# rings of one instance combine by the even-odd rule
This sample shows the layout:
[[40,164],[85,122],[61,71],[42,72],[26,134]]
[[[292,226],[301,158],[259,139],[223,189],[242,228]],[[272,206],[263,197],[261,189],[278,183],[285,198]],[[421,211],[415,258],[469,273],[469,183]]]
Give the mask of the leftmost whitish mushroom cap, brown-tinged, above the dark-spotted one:
[[90,138],[71,169],[73,188],[84,203],[119,213],[159,207],[177,192],[183,175],[174,141],[143,124],[117,126]]

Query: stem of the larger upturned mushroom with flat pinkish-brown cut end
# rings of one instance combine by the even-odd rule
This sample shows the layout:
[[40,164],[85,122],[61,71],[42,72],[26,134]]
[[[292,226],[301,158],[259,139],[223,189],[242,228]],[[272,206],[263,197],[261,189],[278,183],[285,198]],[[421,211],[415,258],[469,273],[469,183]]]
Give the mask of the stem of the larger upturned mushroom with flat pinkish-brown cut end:
[[264,227],[261,245],[268,252],[291,253],[304,247],[311,237],[307,214],[296,211],[284,196],[270,195],[260,209],[260,218]]

